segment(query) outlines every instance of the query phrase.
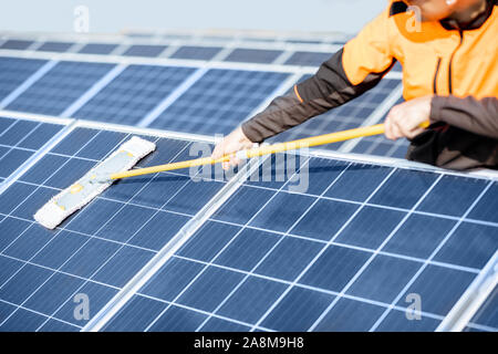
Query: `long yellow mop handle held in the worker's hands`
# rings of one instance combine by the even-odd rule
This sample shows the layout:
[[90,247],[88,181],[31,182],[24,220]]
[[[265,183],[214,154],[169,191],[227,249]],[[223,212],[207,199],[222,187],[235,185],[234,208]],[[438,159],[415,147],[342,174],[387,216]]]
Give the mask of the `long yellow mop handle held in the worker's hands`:
[[[429,122],[425,122],[421,124],[421,127],[427,127],[429,125]],[[251,158],[256,156],[263,156],[269,154],[277,154],[288,150],[294,150],[303,147],[311,147],[311,146],[318,146],[318,145],[324,145],[324,144],[331,144],[331,143],[338,143],[338,142],[344,142],[349,139],[353,139],[356,137],[363,137],[363,136],[372,136],[372,135],[378,135],[384,134],[384,124],[377,124],[372,126],[365,126],[343,132],[335,132],[335,133],[329,133],[323,135],[318,135],[313,137],[307,137],[303,139],[298,140],[291,140],[286,143],[278,143],[267,146],[260,146],[260,147],[253,147],[250,149],[241,150],[238,153],[234,153],[230,155],[225,155],[220,158],[211,158],[211,157],[203,157],[203,158],[196,158],[190,159],[186,162],[179,162],[179,163],[173,163],[173,164],[166,164],[166,165],[158,165],[158,166],[152,166],[146,168],[137,168],[127,170],[124,173],[117,173],[112,174],[110,176],[111,179],[120,179],[120,178],[126,178],[126,177],[134,177],[134,176],[143,176],[143,175],[149,175],[155,173],[162,173],[166,170],[174,170],[174,169],[181,169],[181,168],[189,168],[195,166],[203,166],[203,165],[214,165],[218,163],[225,163],[230,160],[231,157],[239,156],[241,158]]]

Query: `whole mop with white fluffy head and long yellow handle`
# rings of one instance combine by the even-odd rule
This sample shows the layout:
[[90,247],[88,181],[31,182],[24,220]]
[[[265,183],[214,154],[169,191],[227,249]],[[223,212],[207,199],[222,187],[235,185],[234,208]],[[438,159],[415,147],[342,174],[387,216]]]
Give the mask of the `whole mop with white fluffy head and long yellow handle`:
[[[421,125],[427,127],[428,122]],[[344,142],[352,138],[384,134],[384,124],[360,127],[350,131],[335,132],[319,136],[302,138],[292,142],[263,145],[235,154],[225,155],[220,158],[203,157],[179,163],[172,163],[159,166],[131,169],[141,158],[155,149],[155,144],[136,136],[124,143],[110,157],[104,159],[96,167],[92,168],[86,175],[80,178],[75,184],[62,190],[45,204],[34,215],[34,219],[42,226],[54,229],[65,218],[74,211],[83,208],[93,198],[108,188],[114,180],[134,176],[156,174],[160,171],[190,168],[195,166],[214,165],[229,162],[234,156],[239,159],[249,159],[257,156],[277,154],[287,150],[300,149],[318,145]]]

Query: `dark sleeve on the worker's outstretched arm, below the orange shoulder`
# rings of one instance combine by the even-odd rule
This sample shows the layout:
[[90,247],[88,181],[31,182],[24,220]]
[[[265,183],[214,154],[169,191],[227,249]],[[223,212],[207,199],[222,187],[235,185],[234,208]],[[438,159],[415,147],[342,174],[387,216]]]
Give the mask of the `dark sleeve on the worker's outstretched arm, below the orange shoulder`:
[[372,73],[353,85],[342,65],[341,49],[324,62],[317,74],[294,86],[284,96],[274,98],[261,113],[242,124],[242,132],[253,143],[262,140],[304,123],[331,108],[340,106],[374,87],[392,65],[382,73]]

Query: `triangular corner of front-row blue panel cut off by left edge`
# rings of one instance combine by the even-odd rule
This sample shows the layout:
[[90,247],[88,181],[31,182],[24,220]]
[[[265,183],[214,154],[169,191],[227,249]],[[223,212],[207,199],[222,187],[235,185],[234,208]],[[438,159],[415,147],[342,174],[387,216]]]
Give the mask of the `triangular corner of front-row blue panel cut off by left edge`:
[[62,127],[60,124],[0,117],[0,178],[9,177]]

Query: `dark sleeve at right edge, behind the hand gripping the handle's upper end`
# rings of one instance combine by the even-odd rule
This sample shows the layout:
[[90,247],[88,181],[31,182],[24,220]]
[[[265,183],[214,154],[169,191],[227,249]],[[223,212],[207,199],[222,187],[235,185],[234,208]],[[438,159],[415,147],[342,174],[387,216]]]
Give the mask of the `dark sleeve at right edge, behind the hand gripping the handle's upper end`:
[[434,96],[430,104],[430,119],[498,138],[498,98]]

